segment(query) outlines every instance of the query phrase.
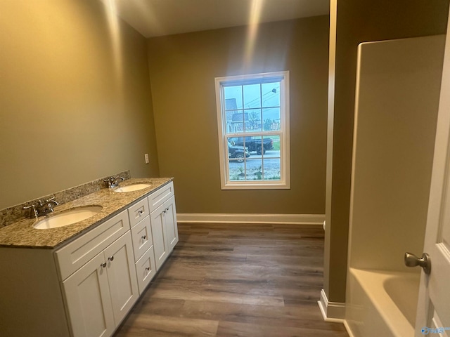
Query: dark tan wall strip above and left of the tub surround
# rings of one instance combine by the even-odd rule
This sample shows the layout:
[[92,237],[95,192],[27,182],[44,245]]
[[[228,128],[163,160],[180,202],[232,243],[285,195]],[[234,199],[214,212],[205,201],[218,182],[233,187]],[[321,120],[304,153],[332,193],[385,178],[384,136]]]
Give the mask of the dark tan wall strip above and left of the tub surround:
[[325,256],[330,269],[324,282],[330,301],[345,302],[356,48],[364,41],[443,34],[448,8],[448,0],[338,0],[333,188]]

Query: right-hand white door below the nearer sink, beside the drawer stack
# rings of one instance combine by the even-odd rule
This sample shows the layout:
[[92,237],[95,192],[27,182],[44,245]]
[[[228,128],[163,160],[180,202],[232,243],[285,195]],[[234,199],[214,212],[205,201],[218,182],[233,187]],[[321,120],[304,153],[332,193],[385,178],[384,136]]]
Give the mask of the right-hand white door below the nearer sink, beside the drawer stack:
[[103,252],[108,272],[115,324],[127,315],[139,297],[131,234],[122,235]]

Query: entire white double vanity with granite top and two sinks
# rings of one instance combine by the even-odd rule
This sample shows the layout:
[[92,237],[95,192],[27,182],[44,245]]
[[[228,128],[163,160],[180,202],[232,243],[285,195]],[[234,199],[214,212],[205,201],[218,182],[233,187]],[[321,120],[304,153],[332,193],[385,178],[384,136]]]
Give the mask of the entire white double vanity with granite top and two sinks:
[[171,178],[125,180],[1,228],[1,334],[112,336],[177,242]]

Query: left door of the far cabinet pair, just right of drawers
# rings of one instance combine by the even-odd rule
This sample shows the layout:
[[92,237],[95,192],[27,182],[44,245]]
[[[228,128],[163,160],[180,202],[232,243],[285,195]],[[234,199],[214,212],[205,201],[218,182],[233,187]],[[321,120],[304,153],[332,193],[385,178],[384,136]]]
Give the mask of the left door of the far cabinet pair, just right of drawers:
[[152,227],[153,249],[155,250],[155,264],[156,270],[159,270],[162,263],[169,255],[167,247],[167,239],[165,238],[165,223],[164,223],[164,204],[150,213],[150,225]]

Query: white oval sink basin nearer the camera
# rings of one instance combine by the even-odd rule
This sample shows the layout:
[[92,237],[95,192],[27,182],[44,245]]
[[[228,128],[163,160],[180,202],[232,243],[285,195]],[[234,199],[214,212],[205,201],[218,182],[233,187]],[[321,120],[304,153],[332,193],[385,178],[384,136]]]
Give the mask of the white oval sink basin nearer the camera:
[[48,230],[49,228],[63,227],[78,223],[79,221],[91,218],[103,209],[102,206],[81,206],[76,209],[62,211],[54,215],[46,216],[46,218],[34,224],[37,230]]

